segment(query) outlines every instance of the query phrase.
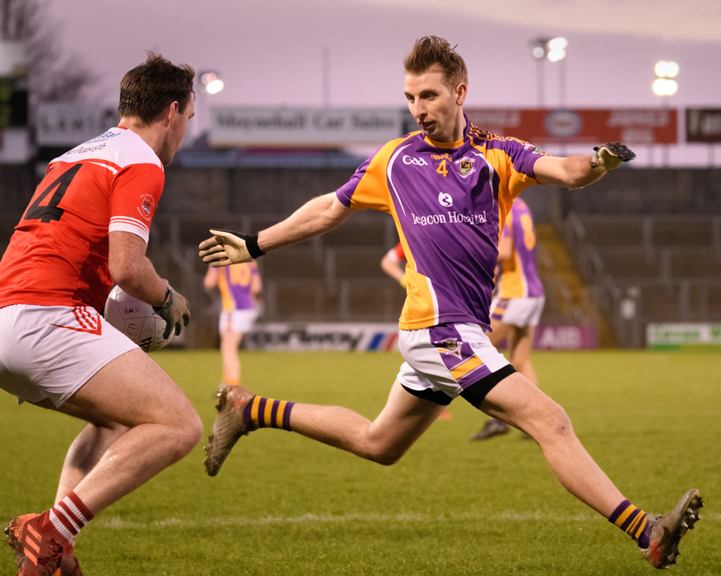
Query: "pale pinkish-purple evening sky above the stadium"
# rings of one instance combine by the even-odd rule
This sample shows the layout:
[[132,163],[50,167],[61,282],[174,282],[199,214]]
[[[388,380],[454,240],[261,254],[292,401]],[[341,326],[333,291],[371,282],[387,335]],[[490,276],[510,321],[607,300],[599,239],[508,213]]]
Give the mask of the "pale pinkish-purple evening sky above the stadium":
[[[48,9],[63,50],[100,73],[93,99],[109,104],[154,50],[217,71],[226,89],[208,96],[215,104],[317,106],[327,50],[331,105],[404,106],[402,59],[435,34],[466,60],[468,106],[535,107],[529,42],[563,35],[570,107],[660,106],[658,60],[681,66],[672,107],[721,107],[721,0],[50,0]],[[548,107],[559,104],[558,72],[544,62]]]

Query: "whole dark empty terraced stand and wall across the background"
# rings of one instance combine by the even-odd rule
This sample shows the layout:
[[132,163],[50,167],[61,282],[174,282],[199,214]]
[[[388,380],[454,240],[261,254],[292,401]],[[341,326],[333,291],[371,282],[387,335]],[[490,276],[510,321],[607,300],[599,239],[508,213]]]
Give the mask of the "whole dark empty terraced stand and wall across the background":
[[[216,338],[217,302],[203,290],[205,264],[197,257],[208,230],[262,230],[353,174],[290,168],[282,156],[255,167],[182,166],[181,157],[167,168],[148,254],[193,302],[186,346]],[[4,166],[0,176],[1,248],[39,178],[29,166]],[[524,195],[537,216],[542,323],[596,323],[602,344],[642,346],[647,322],[721,320],[720,170],[623,169],[589,192],[534,188]],[[394,322],[404,294],[379,261],[396,242],[392,220],[366,210],[261,258],[263,319]]]

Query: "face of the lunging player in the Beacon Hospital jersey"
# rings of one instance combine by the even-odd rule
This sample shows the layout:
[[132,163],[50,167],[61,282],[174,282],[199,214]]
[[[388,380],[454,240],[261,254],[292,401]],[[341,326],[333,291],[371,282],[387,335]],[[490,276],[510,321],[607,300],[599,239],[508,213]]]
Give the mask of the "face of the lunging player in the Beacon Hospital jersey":
[[434,64],[422,74],[406,73],[404,92],[410,113],[428,138],[437,142],[459,139],[456,125],[463,102],[443,84],[441,66]]

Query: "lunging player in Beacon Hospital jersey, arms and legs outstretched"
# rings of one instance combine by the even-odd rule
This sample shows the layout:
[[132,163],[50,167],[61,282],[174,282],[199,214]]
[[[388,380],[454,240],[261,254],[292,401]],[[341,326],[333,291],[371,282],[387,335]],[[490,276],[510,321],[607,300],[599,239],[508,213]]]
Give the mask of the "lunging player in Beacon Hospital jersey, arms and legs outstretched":
[[355,210],[392,215],[408,260],[408,287],[399,322],[405,361],[389,399],[371,421],[339,406],[227,387],[208,438],[206,470],[217,474],[238,438],[259,428],[283,428],[394,464],[461,396],[530,434],[563,487],[632,536],[653,566],[668,566],[698,519],[699,491],[686,492],[664,516],[636,508],[585,451],[565,410],[516,372],[484,333],[498,240],[513,199],[531,184],[586,186],[634,154],[608,143],[593,156],[554,158],[479,130],[463,112],[465,63],[441,38],[418,40],[404,68],[404,94],[419,132],[382,146],[335,194],[312,199],[283,222],[254,235],[211,230],[213,237],[200,244],[204,261],[227,266],[332,230]]

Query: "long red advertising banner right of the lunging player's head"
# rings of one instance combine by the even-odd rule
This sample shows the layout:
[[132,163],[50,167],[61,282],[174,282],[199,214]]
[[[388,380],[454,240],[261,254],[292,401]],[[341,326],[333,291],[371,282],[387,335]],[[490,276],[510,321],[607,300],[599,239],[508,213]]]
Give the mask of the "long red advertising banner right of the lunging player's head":
[[675,144],[678,140],[675,109],[464,108],[464,112],[481,130],[534,144]]

